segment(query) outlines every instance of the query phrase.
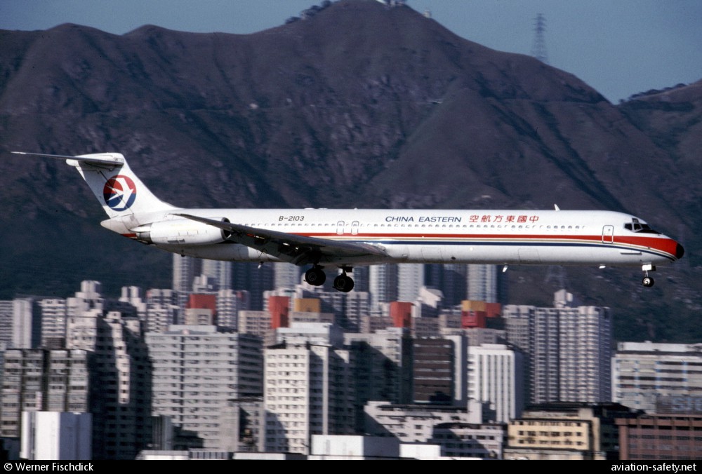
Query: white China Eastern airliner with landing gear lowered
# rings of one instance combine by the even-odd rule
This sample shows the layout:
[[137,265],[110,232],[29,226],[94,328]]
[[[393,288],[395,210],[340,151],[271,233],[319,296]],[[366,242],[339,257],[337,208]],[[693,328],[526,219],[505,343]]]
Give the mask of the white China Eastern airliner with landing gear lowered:
[[310,266],[305,281],[350,292],[354,266],[389,263],[640,266],[642,285],[684,248],[644,220],[604,210],[193,209],[161,201],[120,153],[60,158],[102,204],[110,231],[183,256]]

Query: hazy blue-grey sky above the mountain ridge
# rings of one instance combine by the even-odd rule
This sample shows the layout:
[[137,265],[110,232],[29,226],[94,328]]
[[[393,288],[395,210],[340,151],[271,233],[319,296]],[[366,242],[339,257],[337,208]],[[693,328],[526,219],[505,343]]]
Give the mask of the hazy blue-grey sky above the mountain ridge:
[[[61,23],[124,34],[142,25],[247,34],[282,25],[321,0],[0,0],[0,29]],[[489,48],[531,54],[545,17],[550,65],[611,102],[702,79],[702,0],[408,0],[452,32]],[[0,43],[0,48],[2,44]]]

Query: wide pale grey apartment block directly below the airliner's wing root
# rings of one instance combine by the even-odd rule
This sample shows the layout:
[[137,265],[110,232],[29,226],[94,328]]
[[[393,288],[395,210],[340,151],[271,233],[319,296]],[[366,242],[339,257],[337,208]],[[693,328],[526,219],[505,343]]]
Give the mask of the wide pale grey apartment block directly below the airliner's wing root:
[[260,337],[213,325],[174,325],[146,334],[153,374],[152,414],[170,417],[201,447],[226,450],[222,413],[230,400],[263,393]]

